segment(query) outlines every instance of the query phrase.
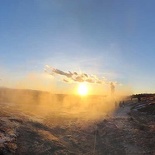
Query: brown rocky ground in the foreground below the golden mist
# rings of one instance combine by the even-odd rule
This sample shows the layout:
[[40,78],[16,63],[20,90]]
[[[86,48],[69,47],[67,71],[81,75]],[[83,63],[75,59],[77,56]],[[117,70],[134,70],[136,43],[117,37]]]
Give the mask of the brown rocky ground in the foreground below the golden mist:
[[142,103],[127,102],[100,120],[56,111],[42,117],[11,103],[0,109],[0,154],[155,154],[155,117]]

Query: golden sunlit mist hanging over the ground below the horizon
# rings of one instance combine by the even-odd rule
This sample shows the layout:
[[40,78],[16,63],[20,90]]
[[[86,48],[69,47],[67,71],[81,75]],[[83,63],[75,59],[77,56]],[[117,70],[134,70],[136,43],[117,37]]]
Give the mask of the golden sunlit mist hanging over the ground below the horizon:
[[46,120],[46,117],[100,120],[110,115],[121,98],[101,95],[52,94],[28,89],[0,89],[3,103],[12,103],[23,114]]

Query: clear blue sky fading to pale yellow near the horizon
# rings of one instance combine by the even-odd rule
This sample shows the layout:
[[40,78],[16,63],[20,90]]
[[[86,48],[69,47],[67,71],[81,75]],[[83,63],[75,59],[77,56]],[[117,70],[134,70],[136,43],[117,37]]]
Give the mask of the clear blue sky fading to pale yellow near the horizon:
[[105,77],[133,93],[154,92],[154,6],[154,0],[1,0],[0,85],[71,90],[72,83],[44,73],[49,65]]

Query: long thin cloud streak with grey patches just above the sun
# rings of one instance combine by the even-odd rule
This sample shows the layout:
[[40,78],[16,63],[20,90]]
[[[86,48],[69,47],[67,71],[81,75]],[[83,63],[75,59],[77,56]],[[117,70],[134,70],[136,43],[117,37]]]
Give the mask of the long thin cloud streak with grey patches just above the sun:
[[45,72],[50,75],[62,75],[65,78],[64,82],[88,82],[88,83],[97,83],[97,84],[105,84],[107,81],[104,78],[98,78],[96,75],[88,75],[86,73],[77,73],[77,72],[64,72],[59,69],[53,68],[51,66],[45,66]]

